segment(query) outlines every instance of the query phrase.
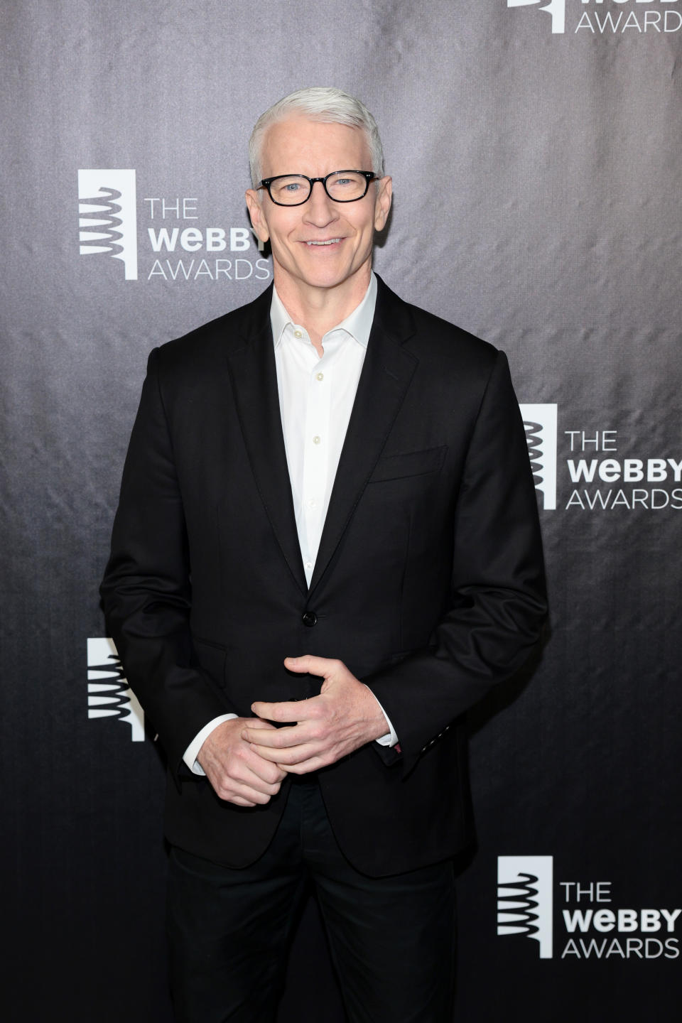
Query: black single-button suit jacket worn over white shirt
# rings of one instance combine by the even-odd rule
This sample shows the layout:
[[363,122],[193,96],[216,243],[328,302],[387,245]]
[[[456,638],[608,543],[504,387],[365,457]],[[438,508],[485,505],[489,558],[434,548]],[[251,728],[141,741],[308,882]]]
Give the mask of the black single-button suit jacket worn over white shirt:
[[465,843],[461,715],[519,667],[545,615],[518,406],[502,353],[379,281],[309,590],[270,301],[149,357],[101,589],[108,626],[169,755],[172,843],[232,866],[264,851],[286,784],[239,808],[182,754],[221,713],[315,695],[320,679],[282,661],[317,654],[372,688],[402,749],[372,743],[320,772],[336,838],[366,874],[408,871]]

